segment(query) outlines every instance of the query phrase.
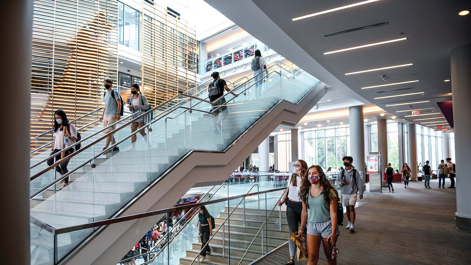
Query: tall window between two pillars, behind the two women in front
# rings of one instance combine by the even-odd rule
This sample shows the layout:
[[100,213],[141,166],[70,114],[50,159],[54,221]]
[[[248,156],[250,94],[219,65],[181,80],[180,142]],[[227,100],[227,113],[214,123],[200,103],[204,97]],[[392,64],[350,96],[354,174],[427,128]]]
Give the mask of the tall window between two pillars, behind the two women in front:
[[303,159],[309,166],[339,169],[343,165],[342,157],[349,155],[349,137],[348,125],[306,129],[302,132]]

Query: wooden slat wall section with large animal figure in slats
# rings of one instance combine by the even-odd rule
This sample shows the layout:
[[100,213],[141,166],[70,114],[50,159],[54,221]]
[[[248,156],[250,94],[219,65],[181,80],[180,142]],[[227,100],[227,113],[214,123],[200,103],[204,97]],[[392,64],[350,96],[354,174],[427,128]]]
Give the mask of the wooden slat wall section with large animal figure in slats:
[[31,137],[51,128],[57,109],[73,120],[102,106],[103,80],[117,80],[117,21],[115,0],[34,0]]

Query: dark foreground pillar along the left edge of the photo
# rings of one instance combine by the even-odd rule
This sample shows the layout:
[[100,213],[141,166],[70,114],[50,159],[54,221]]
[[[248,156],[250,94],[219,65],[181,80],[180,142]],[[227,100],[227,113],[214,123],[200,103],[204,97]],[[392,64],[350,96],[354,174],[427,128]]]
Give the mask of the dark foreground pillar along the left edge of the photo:
[[[3,60],[0,78],[5,88],[14,89],[15,100],[6,100],[6,110],[14,110],[8,119],[9,128],[1,130],[2,185],[1,211],[5,216],[2,231],[4,242],[15,242],[1,257],[1,264],[30,264],[29,221],[29,151],[30,151],[30,97],[31,97],[31,38],[32,1],[0,1],[1,36],[7,37],[0,44]],[[12,118],[14,115],[15,118]],[[11,146],[13,148],[8,148]],[[20,165],[20,166],[13,166]],[[52,238],[51,238],[52,240]],[[51,241],[52,242],[52,241]]]

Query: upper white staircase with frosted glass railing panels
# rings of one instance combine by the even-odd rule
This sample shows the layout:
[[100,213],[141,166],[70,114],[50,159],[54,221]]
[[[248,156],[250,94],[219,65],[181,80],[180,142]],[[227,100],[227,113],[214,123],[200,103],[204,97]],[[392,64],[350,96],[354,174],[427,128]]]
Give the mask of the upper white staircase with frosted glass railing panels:
[[[116,122],[118,128],[114,131],[121,132],[121,135],[125,132],[126,135],[117,137],[115,145],[120,146],[119,153],[110,154],[108,150],[102,150],[106,136],[98,128],[90,132],[89,136],[82,137],[84,144],[87,141],[90,143],[85,146],[82,144],[81,152],[71,155],[73,159],[80,158],[68,175],[73,182],[58,191],[56,186],[65,176],[55,176],[49,184],[45,184],[48,181],[41,182],[39,191],[32,191],[31,199],[40,196],[44,199],[31,209],[35,223],[31,225],[34,237],[31,246],[32,264],[50,261],[54,256],[53,249],[56,249],[56,259],[60,262],[94,232],[94,229],[87,229],[59,234],[57,248],[54,248],[50,240],[41,237],[41,224],[58,229],[114,216],[145,187],[159,177],[164,177],[162,173],[190,151],[225,150],[280,100],[297,103],[318,84],[319,80],[297,67],[273,64],[258,82],[255,82],[254,77],[245,77],[231,84],[231,92],[238,95],[225,95],[228,115],[224,120],[220,118],[222,114],[217,119],[212,117],[211,114],[218,111],[220,106],[211,107],[211,102],[202,98],[207,89],[207,84],[203,84],[151,110],[154,119],[142,128],[153,128],[152,132],[147,132],[149,142],[143,143],[138,135],[137,146],[144,150],[125,151],[130,145],[131,136],[127,133],[130,132],[127,125],[138,117]],[[257,89],[261,89],[259,97],[255,93]],[[140,116],[147,114],[142,113]],[[221,126],[214,127],[217,122]],[[113,145],[108,147],[111,148]],[[39,173],[33,172],[32,179],[36,180],[51,171],[43,169]]]

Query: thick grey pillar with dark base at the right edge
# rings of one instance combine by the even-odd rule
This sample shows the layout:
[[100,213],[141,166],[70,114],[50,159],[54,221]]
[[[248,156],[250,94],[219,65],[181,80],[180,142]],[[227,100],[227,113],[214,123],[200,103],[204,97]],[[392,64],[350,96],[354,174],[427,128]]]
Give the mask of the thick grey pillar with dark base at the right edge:
[[[456,228],[471,232],[471,176],[466,165],[471,155],[471,43],[450,51],[451,89],[453,93],[453,121],[455,123],[455,156],[458,167],[456,179]],[[447,134],[445,134],[447,135]]]

